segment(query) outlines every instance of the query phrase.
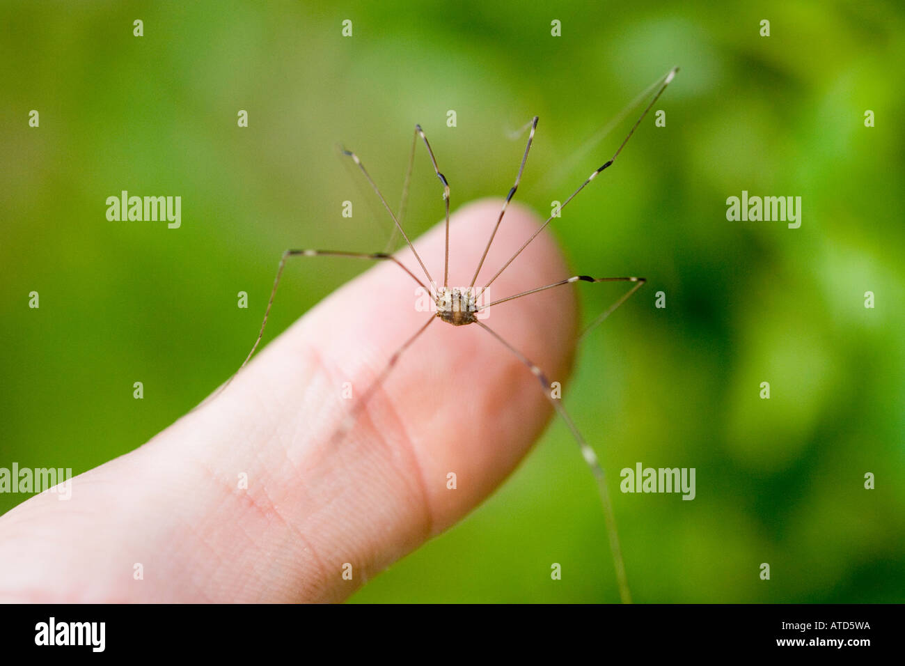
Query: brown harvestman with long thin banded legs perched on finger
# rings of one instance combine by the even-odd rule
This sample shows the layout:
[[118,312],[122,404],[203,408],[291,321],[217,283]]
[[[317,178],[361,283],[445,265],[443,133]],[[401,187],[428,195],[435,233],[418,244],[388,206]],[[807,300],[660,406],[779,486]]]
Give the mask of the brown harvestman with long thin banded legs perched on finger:
[[[672,82],[673,77],[675,76],[676,72],[678,72],[678,71],[679,71],[679,68],[675,67],[670,72],[668,72],[665,75],[665,77],[663,77],[662,82],[660,83],[660,87],[657,90],[656,94],[653,96],[653,99],[644,108],[644,111],[642,111],[641,116],[638,118],[638,120],[635,121],[635,123],[632,126],[632,129],[629,130],[628,134],[625,136],[625,139],[619,145],[619,148],[617,148],[616,151],[613,153],[613,157],[606,160],[605,163],[599,169],[595,169],[591,173],[591,175],[585,179],[585,182],[583,182],[569,196],[569,198],[567,198],[561,204],[561,206],[559,207],[560,210],[562,210],[562,208],[566,208],[568,203],[573,198],[576,198],[578,192],[580,192],[582,189],[586,188],[588,183],[590,183],[592,180],[594,180],[597,177],[597,175],[600,174],[601,171],[603,171],[604,169],[607,169],[613,165],[615,159],[617,157],[619,157],[619,153],[621,153],[622,150],[624,149],[625,144],[628,143],[628,140],[632,138],[632,135],[634,134],[634,130],[636,130],[638,128],[638,126],[641,124],[641,122],[644,120],[644,117],[647,115],[648,111],[651,111],[651,109],[653,108],[653,104],[660,98],[660,95],[662,95],[662,92],[666,89],[666,86],[669,85],[670,82]],[[529,371],[535,377],[538,378],[538,381],[540,381],[541,389],[542,389],[544,395],[547,397],[550,404],[553,405],[553,408],[557,411],[557,413],[562,418],[562,420],[566,423],[568,430],[570,430],[572,433],[572,437],[576,440],[576,442],[578,443],[578,446],[581,448],[582,455],[584,456],[588,467],[590,467],[591,471],[594,473],[594,476],[597,481],[597,488],[600,492],[601,501],[603,503],[604,516],[605,516],[605,521],[606,521],[606,531],[608,533],[609,540],[610,540],[610,549],[613,551],[613,559],[614,559],[614,565],[615,565],[615,570],[616,570],[616,580],[619,584],[619,594],[624,603],[630,603],[631,596],[629,594],[628,581],[625,576],[625,565],[623,562],[622,550],[619,546],[619,537],[616,533],[613,505],[610,502],[609,492],[606,487],[606,478],[605,478],[604,469],[601,467],[601,465],[597,459],[597,456],[594,452],[594,449],[591,449],[591,447],[585,441],[585,438],[582,437],[581,433],[576,428],[575,422],[568,415],[566,409],[562,406],[561,401],[552,397],[552,394],[550,391],[551,390],[550,382],[548,381],[547,376],[544,374],[544,372],[537,365],[535,365],[533,362],[531,362],[524,354],[519,352],[518,349],[516,349],[510,343],[508,343],[506,340],[504,340],[502,337],[500,337],[500,335],[497,334],[495,331],[493,331],[487,324],[479,321],[478,316],[477,316],[477,314],[481,310],[483,310],[485,308],[489,308],[492,305],[506,303],[507,301],[512,301],[516,298],[521,298],[522,296],[527,296],[529,294],[537,294],[538,292],[542,292],[547,289],[552,289],[554,287],[561,286],[561,285],[568,285],[573,282],[593,282],[593,283],[632,282],[632,283],[635,283],[635,285],[629,291],[627,291],[619,300],[617,300],[614,304],[612,304],[609,308],[607,308],[603,314],[598,315],[597,318],[594,320],[594,322],[592,322],[589,326],[586,327],[585,331],[582,333],[582,336],[583,336],[588,331],[590,331],[592,328],[594,328],[597,324],[603,322],[610,314],[613,314],[614,310],[617,307],[619,307],[621,304],[624,304],[624,302],[626,300],[628,300],[628,298],[632,294],[634,294],[636,291],[638,291],[638,289],[640,289],[641,286],[646,281],[646,278],[643,278],[643,277],[591,277],[589,275],[573,275],[572,277],[567,277],[565,280],[559,280],[558,282],[554,282],[550,285],[538,286],[535,289],[529,289],[529,291],[521,292],[520,294],[513,294],[511,296],[507,296],[506,298],[500,298],[499,300],[493,301],[490,304],[486,304],[486,305],[478,304],[478,299],[481,297],[481,294],[483,294],[484,290],[487,289],[487,287],[489,287],[491,284],[493,284],[493,282],[498,277],[500,277],[502,272],[504,270],[506,270],[506,268],[515,260],[515,258],[517,256],[519,256],[519,254],[521,254],[522,250],[524,250],[527,246],[529,246],[529,243],[532,240],[534,240],[538,236],[538,234],[540,234],[541,231],[543,231],[545,228],[547,228],[548,224],[554,217],[554,216],[548,217],[547,221],[544,222],[540,227],[538,227],[538,229],[529,237],[529,239],[526,240],[524,242],[524,244],[522,244],[522,246],[519,247],[519,249],[516,251],[516,253],[510,257],[509,261],[507,261],[505,264],[503,264],[502,267],[500,268],[500,270],[497,271],[496,274],[494,274],[491,277],[490,281],[486,285],[483,285],[482,287],[479,287],[479,288],[475,287],[475,283],[478,280],[478,274],[481,272],[481,266],[484,265],[484,260],[487,258],[487,253],[491,249],[491,245],[493,243],[493,238],[494,238],[494,236],[496,236],[497,231],[500,228],[500,223],[502,222],[503,215],[505,215],[505,213],[506,213],[506,208],[507,208],[507,206],[509,206],[509,203],[512,200],[512,197],[515,195],[516,190],[519,188],[519,181],[521,180],[522,172],[525,170],[525,163],[528,161],[529,150],[531,150],[531,142],[534,140],[534,133],[538,127],[538,117],[535,116],[532,119],[532,121],[530,121],[529,124],[526,125],[525,127],[526,127],[526,129],[528,127],[530,127],[530,133],[529,133],[529,137],[528,137],[528,145],[525,147],[525,154],[521,159],[521,166],[519,167],[519,173],[516,176],[515,184],[510,189],[509,195],[507,195],[506,200],[503,202],[502,208],[500,209],[500,216],[497,217],[497,222],[496,222],[496,225],[493,227],[493,231],[491,232],[491,237],[487,241],[487,246],[484,248],[483,255],[481,255],[481,261],[478,262],[478,267],[474,271],[474,276],[472,277],[472,283],[471,283],[471,285],[468,286],[467,289],[457,289],[457,288],[451,289],[449,286],[450,186],[449,186],[449,182],[446,180],[446,177],[443,176],[443,174],[440,172],[440,169],[437,166],[437,160],[433,156],[433,150],[431,149],[431,144],[428,142],[427,137],[424,135],[424,130],[421,129],[421,125],[414,126],[414,136],[412,138],[412,150],[411,150],[411,153],[409,156],[408,171],[406,172],[405,184],[403,186],[403,200],[402,200],[402,204],[400,206],[398,216],[396,216],[394,214],[393,210],[386,203],[386,198],[384,198],[384,195],[381,194],[380,189],[377,188],[376,183],[374,182],[373,179],[371,179],[370,174],[368,174],[367,169],[365,169],[365,165],[362,164],[360,159],[358,159],[358,156],[350,150],[342,150],[343,155],[352,159],[352,161],[355,162],[355,164],[357,165],[358,169],[361,169],[361,172],[365,175],[365,178],[367,179],[368,184],[371,186],[371,188],[374,189],[377,197],[380,198],[380,202],[383,204],[384,208],[386,208],[386,212],[389,213],[390,217],[393,218],[393,222],[395,225],[394,234],[395,234],[395,232],[398,232],[403,236],[403,238],[405,239],[405,244],[409,247],[409,249],[412,250],[412,254],[414,255],[414,258],[417,260],[418,265],[421,267],[422,271],[424,271],[424,276],[427,278],[428,284],[433,286],[433,285],[435,285],[435,283],[433,281],[433,277],[431,277],[430,272],[427,270],[427,266],[424,265],[424,261],[422,261],[421,256],[418,255],[417,250],[414,249],[414,245],[412,244],[412,241],[405,234],[405,229],[402,227],[402,222],[401,222],[401,219],[405,216],[405,201],[406,201],[407,195],[408,195],[408,182],[409,182],[409,179],[412,174],[415,147],[417,145],[417,141],[419,138],[422,141],[424,141],[424,147],[427,149],[427,154],[429,155],[429,157],[431,159],[431,164],[433,165],[433,171],[436,174],[437,178],[440,179],[440,182],[443,184],[443,202],[444,202],[445,208],[446,208],[446,214],[445,214],[446,239],[445,239],[445,258],[443,261],[443,288],[439,289],[439,290],[436,290],[436,289],[428,290],[428,288],[418,278],[417,275],[414,275],[414,273],[412,273],[412,271],[410,271],[407,267],[405,267],[405,265],[403,265],[397,258],[395,258],[395,256],[392,256],[386,252],[376,252],[376,253],[368,254],[368,253],[362,253],[362,252],[345,252],[345,251],[341,251],[341,250],[310,250],[310,249],[286,250],[285,252],[283,252],[283,255],[280,259],[280,265],[277,268],[276,278],[273,280],[273,288],[271,290],[271,297],[267,303],[267,309],[264,312],[264,318],[261,323],[261,330],[258,333],[258,338],[257,338],[257,340],[255,340],[254,344],[252,345],[252,351],[248,352],[248,356],[245,357],[245,360],[243,361],[242,365],[239,366],[239,370],[237,370],[233,374],[233,377],[235,377],[236,374],[241,372],[242,369],[245,367],[245,365],[249,361],[251,361],[252,355],[254,354],[255,350],[257,350],[257,348],[258,348],[258,344],[261,343],[261,339],[264,334],[264,327],[267,325],[267,318],[271,313],[271,305],[273,304],[273,297],[274,297],[274,295],[276,295],[277,286],[280,285],[280,278],[282,275],[283,267],[286,265],[286,259],[288,259],[291,256],[348,256],[348,257],[359,258],[359,259],[372,259],[372,260],[376,260],[376,261],[392,261],[392,262],[394,262],[396,265],[398,265],[400,268],[402,268],[405,271],[405,273],[408,274],[416,283],[418,283],[418,285],[421,285],[421,287],[424,289],[425,293],[433,294],[433,302],[436,305],[437,311],[436,311],[436,313],[431,314],[431,316],[427,320],[427,322],[424,323],[424,325],[421,326],[421,328],[419,328],[414,333],[414,335],[412,335],[408,340],[406,340],[405,343],[403,343],[393,353],[392,356],[390,356],[389,361],[386,362],[386,366],[383,369],[383,371],[381,371],[380,374],[377,375],[376,380],[371,383],[371,385],[367,388],[367,390],[358,399],[357,403],[353,406],[353,408],[350,411],[350,413],[348,414],[347,420],[343,424],[343,427],[341,428],[340,432],[348,431],[348,428],[351,427],[351,424],[355,420],[354,416],[357,413],[357,411],[361,410],[364,407],[364,405],[367,403],[367,400],[371,397],[371,395],[374,393],[374,391],[376,391],[376,389],[379,388],[379,386],[383,383],[383,381],[386,380],[386,376],[393,369],[393,367],[395,366],[395,363],[399,360],[399,357],[403,354],[403,352],[405,352],[405,350],[408,349],[408,347],[412,343],[414,343],[414,341],[422,333],[424,333],[424,331],[427,329],[427,327],[431,323],[433,323],[433,321],[435,319],[439,318],[443,322],[451,323],[453,326],[464,326],[464,325],[467,325],[470,323],[474,323],[474,324],[480,326],[482,329],[487,331],[487,333],[490,333],[494,338],[496,338],[498,341],[500,341],[500,343],[503,346],[505,346],[510,352],[512,352],[519,359],[519,361],[524,363],[525,366],[529,369]],[[230,381],[233,381],[233,377],[231,377],[229,380],[227,380],[224,383],[224,385],[220,391],[223,391],[229,385]]]

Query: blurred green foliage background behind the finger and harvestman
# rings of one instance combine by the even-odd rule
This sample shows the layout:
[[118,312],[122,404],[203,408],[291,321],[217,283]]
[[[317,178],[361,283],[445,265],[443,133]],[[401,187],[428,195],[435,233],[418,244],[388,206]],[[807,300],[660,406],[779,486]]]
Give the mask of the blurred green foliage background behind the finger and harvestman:
[[[650,280],[567,391],[611,470],[635,599],[905,601],[900,5],[5,2],[0,23],[0,466],[77,474],[138,447],[236,369],[283,249],[383,249],[338,141],[397,201],[422,123],[458,205],[505,195],[524,145],[508,132],[538,114],[517,198],[548,212],[632,118],[576,150],[678,64],[666,127],[644,121],[552,226],[578,272]],[[423,155],[415,171],[413,235],[442,216]],[[182,227],[108,222],[121,189],[180,195]],[[727,221],[743,189],[801,196],[801,228]],[[293,271],[268,339],[363,269]],[[580,292],[586,318],[621,293]],[[697,498],[616,492],[638,461],[696,468]],[[595,486],[558,422],[472,516],[354,597],[617,599]]]

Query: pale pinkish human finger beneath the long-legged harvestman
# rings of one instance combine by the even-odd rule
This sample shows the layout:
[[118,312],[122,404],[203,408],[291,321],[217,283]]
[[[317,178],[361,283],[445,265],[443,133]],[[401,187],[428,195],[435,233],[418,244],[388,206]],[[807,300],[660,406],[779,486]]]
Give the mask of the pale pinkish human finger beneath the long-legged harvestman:
[[[500,205],[482,200],[452,216],[450,285],[472,280]],[[539,224],[510,205],[481,275]],[[442,226],[414,240],[433,273],[443,242]],[[407,248],[397,256],[417,275]],[[299,257],[283,279],[357,261]],[[544,233],[491,285],[490,300],[569,275]],[[537,378],[478,326],[434,321],[348,435],[333,438],[352,408],[343,383],[353,396],[366,391],[428,319],[415,311],[416,286],[399,266],[377,263],[267,344],[214,400],[72,479],[69,501],[43,493],[0,516],[0,601],[338,602],[461,520],[516,468],[552,413]],[[575,289],[495,305],[482,321],[565,383]],[[277,295],[274,308],[294,306]],[[255,316],[236,324],[250,343]]]

